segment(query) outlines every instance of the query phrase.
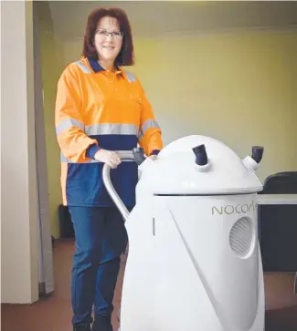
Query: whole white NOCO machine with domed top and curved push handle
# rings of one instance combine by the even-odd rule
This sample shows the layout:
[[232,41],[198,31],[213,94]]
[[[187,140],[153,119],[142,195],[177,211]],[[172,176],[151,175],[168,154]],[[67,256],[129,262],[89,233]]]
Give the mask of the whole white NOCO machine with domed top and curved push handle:
[[240,160],[224,143],[192,135],[141,163],[136,205],[122,212],[129,254],[121,331],[262,331],[264,285],[255,174],[263,148]]

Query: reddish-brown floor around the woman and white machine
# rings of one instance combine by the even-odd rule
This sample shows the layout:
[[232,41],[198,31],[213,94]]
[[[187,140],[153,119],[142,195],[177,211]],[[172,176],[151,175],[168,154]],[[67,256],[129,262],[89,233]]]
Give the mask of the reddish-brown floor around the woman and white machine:
[[[58,241],[54,247],[55,293],[33,305],[2,305],[2,331],[72,331],[69,300],[73,241]],[[123,258],[114,298],[115,306],[121,300],[124,266]],[[265,331],[297,331],[297,295],[292,294],[292,286],[293,274],[265,275]],[[115,315],[113,326],[117,330]]]

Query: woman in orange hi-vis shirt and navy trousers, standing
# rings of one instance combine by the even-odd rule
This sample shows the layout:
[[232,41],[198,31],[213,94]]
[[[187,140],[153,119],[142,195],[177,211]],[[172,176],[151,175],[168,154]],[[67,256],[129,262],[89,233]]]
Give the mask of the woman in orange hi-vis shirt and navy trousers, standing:
[[104,188],[103,164],[111,166],[111,181],[131,209],[137,166],[121,162],[116,151],[139,144],[156,159],[163,148],[141,83],[122,68],[132,65],[133,38],[126,14],[121,9],[97,9],[88,19],[83,57],[66,67],[58,81],[61,184],[76,236],[71,279],[74,330],[90,330],[91,324],[94,331],[112,330],[112,299],[127,233]]

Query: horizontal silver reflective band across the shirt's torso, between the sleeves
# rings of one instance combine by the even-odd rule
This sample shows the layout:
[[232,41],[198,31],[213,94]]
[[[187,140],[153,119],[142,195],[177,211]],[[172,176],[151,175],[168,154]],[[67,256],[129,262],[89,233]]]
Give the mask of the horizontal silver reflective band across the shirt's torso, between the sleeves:
[[93,124],[85,127],[85,133],[89,136],[101,134],[119,134],[119,135],[135,135],[137,136],[138,127],[134,124]]

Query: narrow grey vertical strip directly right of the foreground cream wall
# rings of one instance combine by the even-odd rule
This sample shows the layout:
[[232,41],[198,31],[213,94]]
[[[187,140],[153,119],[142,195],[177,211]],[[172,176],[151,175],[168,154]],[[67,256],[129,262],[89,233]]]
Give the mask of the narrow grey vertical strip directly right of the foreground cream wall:
[[37,8],[33,4],[34,15],[34,88],[35,88],[35,134],[37,150],[37,194],[38,194],[38,237],[39,237],[39,295],[54,291],[53,253],[50,232],[48,202],[48,171],[46,154],[46,132],[43,108],[43,88],[40,60],[40,41],[37,22]]

